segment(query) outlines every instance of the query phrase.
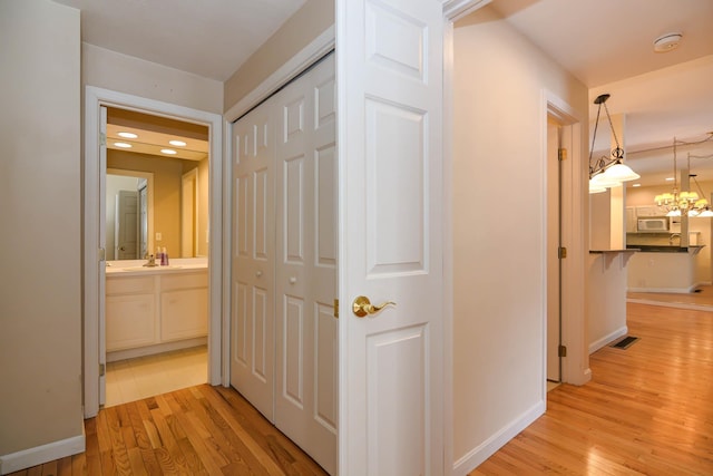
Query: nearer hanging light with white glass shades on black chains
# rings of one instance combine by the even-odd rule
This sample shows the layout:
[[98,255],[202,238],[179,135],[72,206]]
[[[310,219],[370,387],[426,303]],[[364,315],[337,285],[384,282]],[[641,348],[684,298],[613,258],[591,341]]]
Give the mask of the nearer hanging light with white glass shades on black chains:
[[[597,119],[594,124],[594,135],[592,137],[592,149],[589,150],[589,193],[599,193],[615,186],[621,186],[623,182],[635,181],[641,176],[632,171],[631,167],[623,163],[624,149],[619,145],[619,139],[614,132],[614,125],[612,124],[612,117],[609,116],[609,109],[606,107],[606,100],[609,98],[608,94],[597,96],[594,104],[597,108]],[[594,154],[594,144],[597,138],[597,127],[599,125],[599,114],[602,113],[602,105],[604,105],[604,111],[606,113],[607,120],[609,123],[609,129],[614,137],[616,148],[613,148],[609,156],[602,156],[596,159],[592,159]]]

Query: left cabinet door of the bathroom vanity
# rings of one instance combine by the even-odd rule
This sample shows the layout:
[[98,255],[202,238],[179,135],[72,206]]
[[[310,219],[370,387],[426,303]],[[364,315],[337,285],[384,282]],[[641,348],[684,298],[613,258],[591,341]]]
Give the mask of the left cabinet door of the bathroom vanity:
[[107,295],[107,351],[156,342],[154,294]]

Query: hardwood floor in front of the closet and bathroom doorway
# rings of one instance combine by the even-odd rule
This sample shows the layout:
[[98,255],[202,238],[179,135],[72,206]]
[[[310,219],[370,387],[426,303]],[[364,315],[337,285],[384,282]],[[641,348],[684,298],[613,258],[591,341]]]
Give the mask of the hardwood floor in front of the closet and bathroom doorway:
[[87,450],[12,475],[325,475],[233,389],[201,385],[105,408]]

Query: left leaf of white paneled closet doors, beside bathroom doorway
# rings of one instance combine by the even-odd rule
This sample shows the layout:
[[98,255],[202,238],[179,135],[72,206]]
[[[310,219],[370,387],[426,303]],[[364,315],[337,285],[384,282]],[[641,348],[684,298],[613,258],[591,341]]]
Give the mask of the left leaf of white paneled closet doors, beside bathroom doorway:
[[274,137],[270,101],[233,126],[231,385],[273,420]]

